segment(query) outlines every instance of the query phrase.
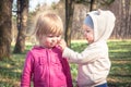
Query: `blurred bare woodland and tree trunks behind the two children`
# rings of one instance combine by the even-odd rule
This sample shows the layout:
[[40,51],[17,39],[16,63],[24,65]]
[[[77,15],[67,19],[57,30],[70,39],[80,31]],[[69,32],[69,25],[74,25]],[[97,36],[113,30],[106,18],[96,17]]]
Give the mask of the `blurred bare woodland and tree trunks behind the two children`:
[[110,10],[116,15],[116,26],[111,38],[131,38],[131,0],[60,0],[51,5],[38,4],[32,12],[28,12],[28,3],[32,0],[16,1],[16,14],[12,17],[13,24],[11,23],[12,0],[0,1],[0,58],[10,57],[11,39],[15,44],[14,53],[24,52],[25,41],[36,42],[31,33],[35,27],[36,15],[44,11],[52,11],[60,15],[68,46],[70,46],[71,39],[83,39],[81,33],[83,20],[87,12],[97,9]]

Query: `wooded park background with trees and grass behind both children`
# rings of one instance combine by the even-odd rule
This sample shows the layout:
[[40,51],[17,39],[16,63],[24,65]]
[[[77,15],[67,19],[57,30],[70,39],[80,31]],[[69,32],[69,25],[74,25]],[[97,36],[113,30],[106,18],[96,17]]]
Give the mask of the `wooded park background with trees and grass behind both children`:
[[[81,52],[87,46],[81,33],[83,20],[87,12],[97,9],[110,10],[116,15],[115,29],[107,41],[112,63],[107,78],[109,87],[131,87],[131,0],[57,0],[51,4],[39,2],[29,10],[32,1],[0,1],[0,87],[20,87],[25,54],[36,45],[33,32],[37,14],[59,14],[68,46]],[[76,65],[70,65],[75,87]]]

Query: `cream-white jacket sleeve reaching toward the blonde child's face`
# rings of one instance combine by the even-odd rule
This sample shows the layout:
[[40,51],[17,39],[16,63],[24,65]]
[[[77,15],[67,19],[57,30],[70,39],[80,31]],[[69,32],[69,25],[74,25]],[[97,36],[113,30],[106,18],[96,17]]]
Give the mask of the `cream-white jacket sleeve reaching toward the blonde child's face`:
[[[103,48],[102,48],[103,49]],[[70,48],[66,48],[63,50],[62,57],[69,59],[72,63],[87,63],[93,62],[98,59],[98,57],[102,57],[100,54],[104,54],[104,51],[97,49],[97,48],[86,48],[81,53],[75,52],[71,50]]]

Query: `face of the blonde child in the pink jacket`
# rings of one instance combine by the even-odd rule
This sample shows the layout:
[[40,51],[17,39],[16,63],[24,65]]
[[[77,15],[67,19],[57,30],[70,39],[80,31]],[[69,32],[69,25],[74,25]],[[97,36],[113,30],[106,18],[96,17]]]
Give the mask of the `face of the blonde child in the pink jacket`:
[[46,47],[46,48],[52,48],[59,44],[61,36],[48,34],[46,36],[41,36],[40,38],[41,38],[40,46]]

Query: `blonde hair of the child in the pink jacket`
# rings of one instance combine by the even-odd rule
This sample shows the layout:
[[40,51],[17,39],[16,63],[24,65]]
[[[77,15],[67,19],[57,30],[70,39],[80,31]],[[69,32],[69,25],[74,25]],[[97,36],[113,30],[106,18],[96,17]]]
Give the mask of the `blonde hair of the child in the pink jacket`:
[[53,34],[56,36],[62,35],[63,24],[61,18],[55,13],[41,13],[38,16],[35,34],[36,38],[39,39],[41,35]]

